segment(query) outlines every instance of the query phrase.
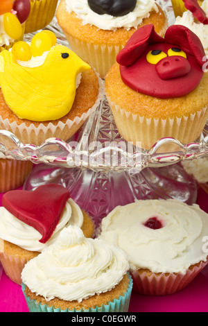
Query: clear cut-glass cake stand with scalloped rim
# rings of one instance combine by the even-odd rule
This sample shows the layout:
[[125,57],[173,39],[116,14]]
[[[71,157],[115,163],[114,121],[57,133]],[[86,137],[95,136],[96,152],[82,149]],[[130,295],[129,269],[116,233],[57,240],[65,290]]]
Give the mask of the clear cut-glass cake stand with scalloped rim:
[[[157,2],[172,24],[171,1]],[[58,42],[69,46],[55,18],[47,28],[56,34]],[[25,39],[32,36],[28,34]],[[146,151],[119,135],[103,94],[97,110],[68,141],[51,138],[40,146],[22,144],[15,135],[0,130],[0,152],[35,164],[24,189],[33,190],[49,182],[62,184],[99,223],[114,207],[135,199],[177,198],[189,205],[196,203],[198,186],[180,162],[207,155],[208,121],[202,135],[191,144],[168,137],[158,139]]]

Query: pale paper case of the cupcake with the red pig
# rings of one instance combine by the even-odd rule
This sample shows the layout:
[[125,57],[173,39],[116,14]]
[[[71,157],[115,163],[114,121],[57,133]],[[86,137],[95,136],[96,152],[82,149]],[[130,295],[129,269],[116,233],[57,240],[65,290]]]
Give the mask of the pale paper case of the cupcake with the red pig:
[[[207,107],[180,118],[154,119],[140,117],[139,114],[132,114],[125,111],[120,105],[116,105],[107,94],[106,97],[120,135],[126,141],[130,141],[137,146],[139,146],[138,143],[140,142],[141,147],[147,150],[164,137],[172,137],[182,144],[195,141],[200,136],[208,118]],[[172,148],[168,144],[168,151],[174,150],[175,144],[173,144]]]

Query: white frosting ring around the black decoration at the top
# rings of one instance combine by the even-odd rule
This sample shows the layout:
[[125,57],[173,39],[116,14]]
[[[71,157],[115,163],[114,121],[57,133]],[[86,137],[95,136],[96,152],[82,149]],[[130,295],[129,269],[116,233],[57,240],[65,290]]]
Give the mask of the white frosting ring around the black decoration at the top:
[[87,0],[66,0],[67,11],[75,12],[78,18],[83,20],[83,24],[94,25],[103,30],[116,30],[117,28],[130,29],[137,28],[144,18],[150,16],[150,12],[158,12],[155,0],[137,0],[137,5],[132,12],[122,17],[112,15],[98,15],[88,6]]

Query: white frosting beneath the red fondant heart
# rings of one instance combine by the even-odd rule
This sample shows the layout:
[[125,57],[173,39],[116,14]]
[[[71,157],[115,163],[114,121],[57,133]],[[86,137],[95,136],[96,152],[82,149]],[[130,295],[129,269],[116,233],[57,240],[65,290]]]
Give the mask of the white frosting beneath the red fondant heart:
[[67,201],[60,221],[46,243],[39,241],[42,238],[40,232],[10,214],[5,207],[0,207],[0,238],[29,251],[42,252],[55,241],[59,232],[67,225],[77,225],[79,228],[83,225],[83,212],[71,198]]

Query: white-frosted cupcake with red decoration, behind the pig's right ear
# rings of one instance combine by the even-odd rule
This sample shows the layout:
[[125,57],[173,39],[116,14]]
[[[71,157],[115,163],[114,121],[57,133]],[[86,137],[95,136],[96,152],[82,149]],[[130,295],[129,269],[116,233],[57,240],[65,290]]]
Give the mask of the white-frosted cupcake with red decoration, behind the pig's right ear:
[[208,0],[203,1],[202,6],[199,6],[196,0],[186,0],[184,5],[189,10],[185,11],[182,17],[178,16],[174,24],[191,29],[200,38],[208,56]]

